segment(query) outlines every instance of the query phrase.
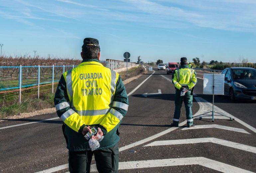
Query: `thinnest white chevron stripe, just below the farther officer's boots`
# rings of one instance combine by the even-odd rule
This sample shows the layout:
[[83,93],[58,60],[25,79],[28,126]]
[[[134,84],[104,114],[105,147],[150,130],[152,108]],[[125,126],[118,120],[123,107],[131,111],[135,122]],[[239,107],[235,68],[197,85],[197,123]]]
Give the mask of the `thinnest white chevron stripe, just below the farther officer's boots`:
[[244,129],[239,129],[239,128],[235,128],[235,127],[229,127],[229,126],[221,126],[221,125],[217,125],[217,124],[196,125],[196,126],[190,127],[190,128],[185,127],[182,130],[206,129],[206,128],[217,128],[217,129],[223,129],[223,130],[229,130],[229,131],[234,131],[234,132],[250,134],[247,131],[245,131]]

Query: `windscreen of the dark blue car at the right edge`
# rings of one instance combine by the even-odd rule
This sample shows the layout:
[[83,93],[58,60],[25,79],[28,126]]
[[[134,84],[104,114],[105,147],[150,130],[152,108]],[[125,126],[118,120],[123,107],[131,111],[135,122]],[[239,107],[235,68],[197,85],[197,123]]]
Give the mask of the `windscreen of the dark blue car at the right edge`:
[[256,70],[254,69],[233,69],[233,79],[256,79]]

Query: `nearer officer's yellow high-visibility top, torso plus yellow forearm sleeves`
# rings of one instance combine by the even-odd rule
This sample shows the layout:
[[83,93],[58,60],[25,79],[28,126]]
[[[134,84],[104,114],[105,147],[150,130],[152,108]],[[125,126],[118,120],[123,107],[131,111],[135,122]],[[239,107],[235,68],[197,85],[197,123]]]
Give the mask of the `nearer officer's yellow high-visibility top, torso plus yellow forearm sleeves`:
[[121,121],[123,115],[111,108],[128,109],[124,103],[113,102],[118,73],[91,61],[82,62],[63,76],[71,109],[61,118],[71,129],[78,132],[84,124],[100,124],[109,132]]

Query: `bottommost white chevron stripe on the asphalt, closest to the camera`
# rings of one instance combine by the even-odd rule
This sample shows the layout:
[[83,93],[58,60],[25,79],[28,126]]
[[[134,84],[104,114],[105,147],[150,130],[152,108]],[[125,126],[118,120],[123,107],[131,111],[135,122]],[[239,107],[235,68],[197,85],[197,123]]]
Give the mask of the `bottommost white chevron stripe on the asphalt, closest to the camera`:
[[[181,165],[201,165],[201,166],[204,166],[216,171],[224,172],[224,173],[251,172],[245,169],[241,169],[241,168],[228,165],[226,163],[222,163],[216,160],[208,159],[205,157],[188,157],[188,158],[119,162],[119,170],[166,167],[166,166],[181,166]],[[96,164],[91,165],[91,172],[97,172]]]

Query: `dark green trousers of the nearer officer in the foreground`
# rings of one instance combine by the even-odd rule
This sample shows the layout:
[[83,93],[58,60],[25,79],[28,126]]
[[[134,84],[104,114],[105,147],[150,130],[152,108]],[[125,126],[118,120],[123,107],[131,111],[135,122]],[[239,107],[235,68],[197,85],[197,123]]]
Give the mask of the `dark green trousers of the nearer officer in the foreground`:
[[94,150],[94,151],[69,151],[69,172],[70,173],[89,173],[92,155],[96,161],[96,167],[99,173],[118,172],[118,144],[113,147]]

